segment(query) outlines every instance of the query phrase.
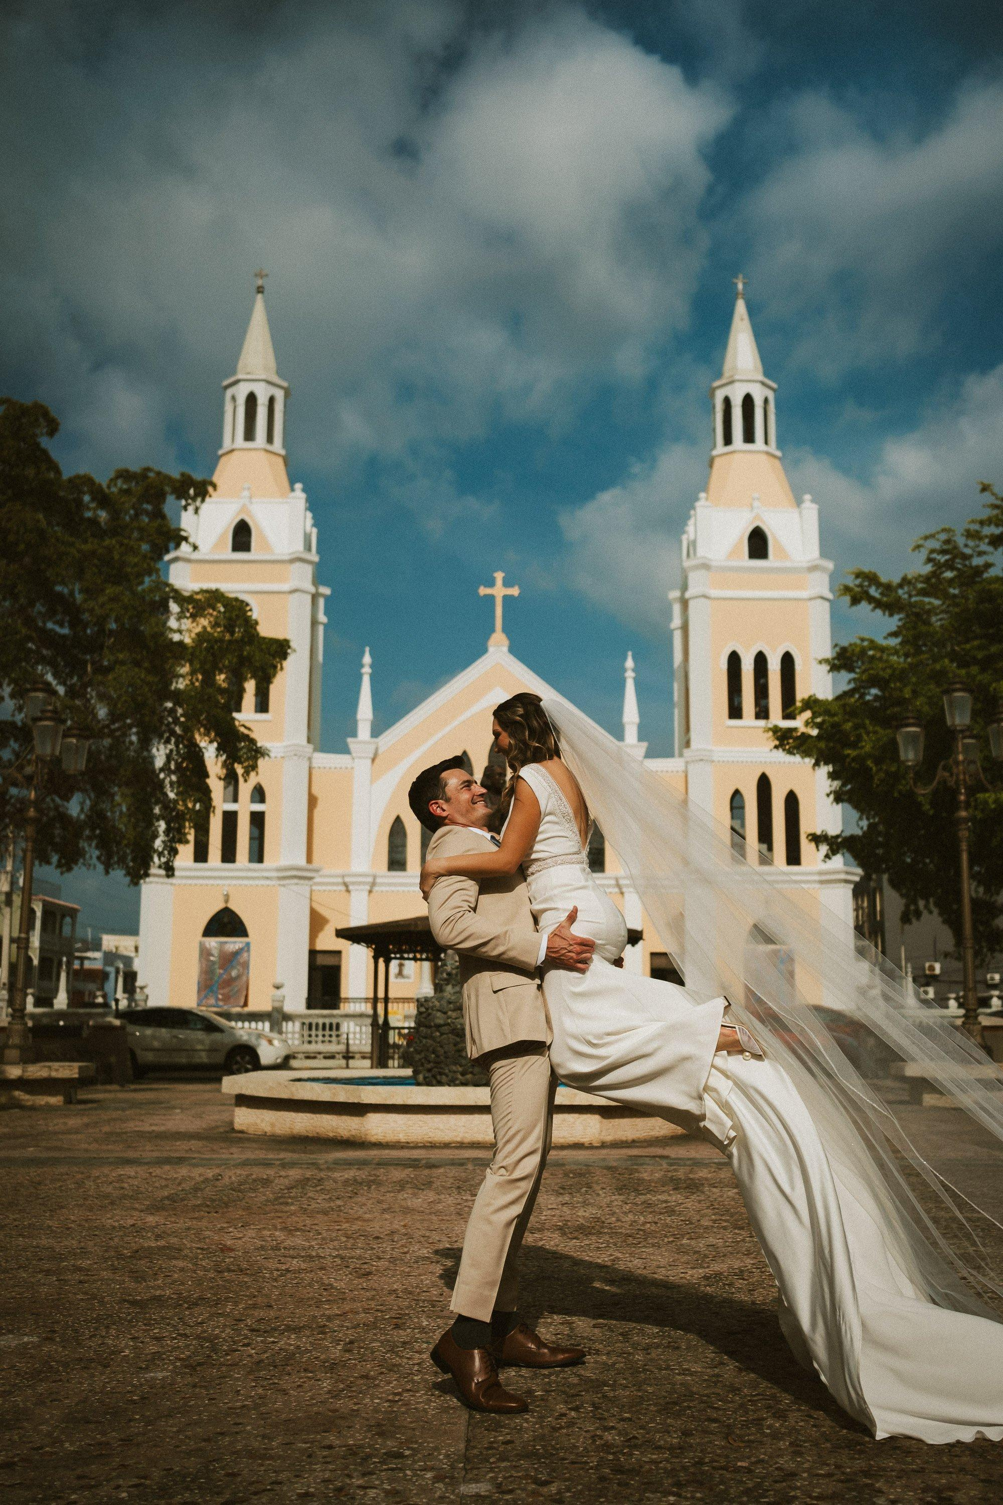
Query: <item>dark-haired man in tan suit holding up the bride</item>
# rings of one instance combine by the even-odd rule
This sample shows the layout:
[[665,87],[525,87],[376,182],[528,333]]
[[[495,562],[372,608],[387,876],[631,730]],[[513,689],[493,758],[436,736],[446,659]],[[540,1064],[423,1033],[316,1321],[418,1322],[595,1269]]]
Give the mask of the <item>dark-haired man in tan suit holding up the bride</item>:
[[[487,793],[463,756],[427,768],[408,799],[433,832],[429,856],[498,844],[487,829]],[[573,909],[556,930],[537,935],[522,873],[480,886],[469,877],[441,877],[429,895],[433,936],[460,954],[466,1047],[486,1067],[492,1094],[495,1154],[463,1237],[451,1303],[457,1315],[432,1350],[474,1410],[528,1409],[502,1386],[501,1364],[549,1370],[585,1358],[582,1348],[546,1344],[516,1312],[519,1249],[550,1148],[556,1090],[538,972],[543,965],[588,969],[594,942],[573,935],[576,915]]]

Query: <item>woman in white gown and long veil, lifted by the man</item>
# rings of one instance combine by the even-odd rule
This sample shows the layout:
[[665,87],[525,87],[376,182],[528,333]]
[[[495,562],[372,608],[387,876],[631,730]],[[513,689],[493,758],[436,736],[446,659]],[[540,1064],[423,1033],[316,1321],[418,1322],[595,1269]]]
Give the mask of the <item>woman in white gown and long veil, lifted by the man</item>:
[[[595,959],[543,981],[558,1078],[723,1151],[794,1354],[875,1437],[1003,1439],[1003,1324],[977,1294],[1001,1291],[973,1227],[998,1224],[956,1184],[971,1118],[1000,1148],[1003,1075],[580,712],[520,694],[492,731],[511,769],[501,846],[429,861],[423,892],[522,865],[540,930],[577,906]],[[588,868],[589,807],[686,987],[617,965],[627,927]],[[910,1076],[968,1115],[940,1157],[893,1106]]]

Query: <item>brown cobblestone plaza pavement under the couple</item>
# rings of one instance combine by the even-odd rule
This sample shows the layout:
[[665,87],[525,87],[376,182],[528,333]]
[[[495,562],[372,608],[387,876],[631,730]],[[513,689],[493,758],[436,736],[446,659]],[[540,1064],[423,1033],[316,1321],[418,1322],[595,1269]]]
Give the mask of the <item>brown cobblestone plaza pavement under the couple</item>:
[[555,1153],[523,1308],[589,1359],[471,1416],[429,1348],[484,1159],[235,1135],[203,1081],[0,1115],[9,1505],[1000,1499],[1003,1446],[877,1443],[795,1365],[686,1139]]

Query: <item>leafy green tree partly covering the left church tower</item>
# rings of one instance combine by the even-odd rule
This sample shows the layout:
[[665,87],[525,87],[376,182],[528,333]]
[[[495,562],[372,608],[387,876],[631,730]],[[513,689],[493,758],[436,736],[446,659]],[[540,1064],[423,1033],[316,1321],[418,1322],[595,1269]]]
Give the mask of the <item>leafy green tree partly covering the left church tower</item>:
[[[164,555],[186,540],[171,504],[198,507],[211,482],[63,476],[47,447],[57,430],[41,402],[0,402],[0,769],[29,746],[24,689],[48,680],[95,742],[81,780],[48,774],[38,859],[138,882],[173,870],[211,808],[208,752],[244,777],[266,756],[233,715],[233,688],[271,682],[289,643],[262,637],[247,602],[164,576]],[[18,828],[23,799],[3,789],[2,829]]]

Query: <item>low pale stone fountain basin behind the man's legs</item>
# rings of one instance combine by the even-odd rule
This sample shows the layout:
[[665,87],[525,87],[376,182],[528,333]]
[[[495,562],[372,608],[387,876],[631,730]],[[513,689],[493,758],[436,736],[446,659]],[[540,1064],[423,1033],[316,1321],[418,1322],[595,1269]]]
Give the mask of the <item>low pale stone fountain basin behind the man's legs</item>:
[[[409,1072],[248,1072],[223,1079],[238,1133],[344,1144],[493,1144],[487,1087],[417,1087]],[[555,1145],[641,1144],[683,1130],[558,1087]]]

